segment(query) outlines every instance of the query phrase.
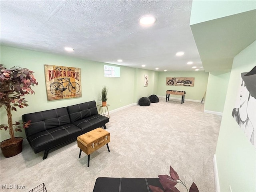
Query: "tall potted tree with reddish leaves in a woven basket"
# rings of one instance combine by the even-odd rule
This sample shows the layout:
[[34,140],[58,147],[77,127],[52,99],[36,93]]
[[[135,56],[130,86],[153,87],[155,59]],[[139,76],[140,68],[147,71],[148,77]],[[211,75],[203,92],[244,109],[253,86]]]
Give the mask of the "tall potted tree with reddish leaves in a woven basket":
[[[12,122],[12,111],[17,111],[17,107],[24,108],[28,106],[24,97],[26,94],[35,93],[31,86],[38,85],[34,78],[33,71],[14,66],[10,69],[5,68],[0,64],[0,81],[1,81],[1,104],[7,112],[8,124],[1,124],[0,129],[9,130],[10,139],[0,143],[0,148],[5,157],[12,157],[22,152],[22,137],[15,137],[16,132],[22,131],[20,122]],[[30,125],[30,121],[23,122],[23,128]],[[16,127],[16,128],[15,128]],[[15,128],[15,129],[14,129]]]

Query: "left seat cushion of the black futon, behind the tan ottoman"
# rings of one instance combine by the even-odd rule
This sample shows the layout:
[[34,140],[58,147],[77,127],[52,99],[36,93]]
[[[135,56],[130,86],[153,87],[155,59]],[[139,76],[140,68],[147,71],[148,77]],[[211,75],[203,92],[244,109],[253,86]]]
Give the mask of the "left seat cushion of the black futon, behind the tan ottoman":
[[66,124],[28,136],[28,142],[34,149],[34,152],[40,152],[54,145],[61,144],[76,138],[82,130],[73,124]]

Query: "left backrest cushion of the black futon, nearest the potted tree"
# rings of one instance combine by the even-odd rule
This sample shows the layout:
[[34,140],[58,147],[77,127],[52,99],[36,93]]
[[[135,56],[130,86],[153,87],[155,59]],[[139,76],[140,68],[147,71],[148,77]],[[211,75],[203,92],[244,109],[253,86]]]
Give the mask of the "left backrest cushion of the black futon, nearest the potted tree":
[[70,118],[66,107],[22,115],[23,122],[31,121],[31,126],[25,129],[26,136],[45,130],[69,124]]

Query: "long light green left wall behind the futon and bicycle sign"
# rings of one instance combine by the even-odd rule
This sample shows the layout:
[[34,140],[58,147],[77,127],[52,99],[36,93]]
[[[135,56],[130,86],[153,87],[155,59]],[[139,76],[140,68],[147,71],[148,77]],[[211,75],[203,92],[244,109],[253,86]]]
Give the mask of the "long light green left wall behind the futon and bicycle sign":
[[[8,46],[1,46],[0,54],[1,64],[4,64],[7,68],[17,65],[28,68],[34,71],[34,76],[38,81],[38,86],[33,88],[36,94],[26,95],[29,106],[24,109],[18,108],[18,112],[12,113],[14,121],[21,122],[22,114],[26,113],[59,108],[91,100],[96,100],[96,103],[99,104],[101,102],[99,94],[103,85],[108,87],[107,103],[110,104],[109,110],[114,110],[136,103],[142,96],[150,96],[156,87],[154,83],[157,82],[154,79],[155,72],[151,70],[120,66],[120,78],[109,78],[104,77],[104,63],[101,62],[86,61],[72,56],[36,52]],[[48,101],[44,78],[44,64],[81,68],[82,97]],[[148,87],[143,87],[144,74],[149,75]],[[1,124],[6,124],[7,118],[4,107],[1,107],[0,114]],[[17,132],[15,136],[26,137],[24,132]],[[0,131],[1,141],[9,137],[8,131]]]

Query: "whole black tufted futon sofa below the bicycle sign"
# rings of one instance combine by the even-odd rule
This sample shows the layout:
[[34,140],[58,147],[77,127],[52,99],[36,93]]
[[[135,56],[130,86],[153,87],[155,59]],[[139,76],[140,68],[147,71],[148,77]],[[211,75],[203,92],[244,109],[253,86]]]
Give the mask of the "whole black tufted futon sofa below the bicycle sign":
[[49,150],[75,140],[98,127],[106,129],[109,118],[98,114],[95,101],[22,115],[23,122],[31,120],[25,129],[28,143],[35,153]]

